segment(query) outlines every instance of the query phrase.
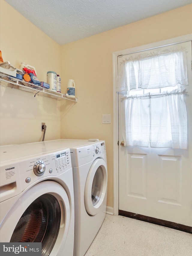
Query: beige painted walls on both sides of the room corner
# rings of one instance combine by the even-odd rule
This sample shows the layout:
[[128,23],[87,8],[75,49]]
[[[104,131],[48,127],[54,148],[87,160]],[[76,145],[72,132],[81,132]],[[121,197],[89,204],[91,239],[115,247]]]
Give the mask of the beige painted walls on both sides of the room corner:
[[[192,33],[192,5],[62,47],[4,0],[0,0],[0,5],[0,49],[4,61],[17,68],[21,61],[35,66],[42,81],[46,81],[47,71],[56,71],[61,76],[63,93],[67,92],[67,80],[74,79],[79,98],[77,103],[62,101],[60,109],[60,102],[54,99],[34,98],[31,93],[1,87],[1,145],[41,141],[41,122],[47,125],[45,140],[105,140],[107,205],[113,207],[112,53]],[[103,114],[111,114],[112,124],[102,124]]]

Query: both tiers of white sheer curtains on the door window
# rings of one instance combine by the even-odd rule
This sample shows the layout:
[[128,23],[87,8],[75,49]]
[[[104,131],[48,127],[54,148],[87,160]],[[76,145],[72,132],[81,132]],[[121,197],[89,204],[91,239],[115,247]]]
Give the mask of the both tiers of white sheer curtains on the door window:
[[[118,68],[117,92],[188,85],[186,49],[132,54]],[[176,87],[175,87],[176,88]],[[125,146],[187,149],[185,89],[123,98]]]

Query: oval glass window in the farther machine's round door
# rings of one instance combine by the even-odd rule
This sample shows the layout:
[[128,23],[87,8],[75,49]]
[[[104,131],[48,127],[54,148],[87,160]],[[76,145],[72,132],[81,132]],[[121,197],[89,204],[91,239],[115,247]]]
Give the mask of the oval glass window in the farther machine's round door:
[[95,176],[93,178],[93,184],[91,189],[92,203],[95,206],[101,198],[103,191],[104,175],[101,166],[98,167]]

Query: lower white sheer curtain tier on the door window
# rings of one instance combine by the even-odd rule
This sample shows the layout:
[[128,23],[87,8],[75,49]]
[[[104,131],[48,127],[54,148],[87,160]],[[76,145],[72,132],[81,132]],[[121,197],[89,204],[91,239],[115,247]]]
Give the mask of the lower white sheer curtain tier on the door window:
[[123,98],[125,146],[187,148],[184,91]]

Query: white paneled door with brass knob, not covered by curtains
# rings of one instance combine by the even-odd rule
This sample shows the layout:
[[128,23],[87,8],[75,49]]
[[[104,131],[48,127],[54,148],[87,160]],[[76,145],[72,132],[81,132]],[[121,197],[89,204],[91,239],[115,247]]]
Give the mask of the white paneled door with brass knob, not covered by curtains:
[[191,41],[182,44],[187,47],[188,147],[184,150],[120,146],[123,140],[121,98],[125,92],[119,93],[119,210],[192,226]]

